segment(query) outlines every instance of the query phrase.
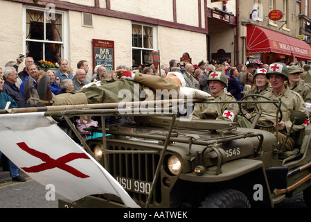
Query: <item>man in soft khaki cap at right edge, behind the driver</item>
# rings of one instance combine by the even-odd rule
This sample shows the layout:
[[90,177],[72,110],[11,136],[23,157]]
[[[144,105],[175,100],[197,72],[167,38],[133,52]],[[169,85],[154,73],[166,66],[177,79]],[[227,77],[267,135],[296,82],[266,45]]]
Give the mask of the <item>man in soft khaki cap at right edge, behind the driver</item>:
[[294,92],[298,92],[305,103],[311,103],[311,87],[301,81],[303,71],[296,65],[288,67],[288,82],[287,87],[290,87]]

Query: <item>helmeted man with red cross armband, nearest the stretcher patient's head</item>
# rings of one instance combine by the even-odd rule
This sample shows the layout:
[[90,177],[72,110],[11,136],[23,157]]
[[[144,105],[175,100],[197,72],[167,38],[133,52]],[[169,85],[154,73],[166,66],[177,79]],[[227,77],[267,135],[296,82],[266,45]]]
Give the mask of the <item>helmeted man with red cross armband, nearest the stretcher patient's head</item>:
[[[215,101],[236,101],[233,96],[224,93],[228,79],[223,71],[213,71],[206,80]],[[236,103],[195,103],[193,119],[217,119],[234,121],[238,114]]]

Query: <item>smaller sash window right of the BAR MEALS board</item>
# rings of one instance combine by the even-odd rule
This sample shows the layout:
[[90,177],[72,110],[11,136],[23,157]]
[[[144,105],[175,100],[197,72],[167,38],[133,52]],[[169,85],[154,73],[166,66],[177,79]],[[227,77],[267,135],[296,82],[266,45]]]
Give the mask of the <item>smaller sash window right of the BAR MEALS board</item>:
[[154,51],[154,28],[132,24],[132,65],[152,63],[152,51]]

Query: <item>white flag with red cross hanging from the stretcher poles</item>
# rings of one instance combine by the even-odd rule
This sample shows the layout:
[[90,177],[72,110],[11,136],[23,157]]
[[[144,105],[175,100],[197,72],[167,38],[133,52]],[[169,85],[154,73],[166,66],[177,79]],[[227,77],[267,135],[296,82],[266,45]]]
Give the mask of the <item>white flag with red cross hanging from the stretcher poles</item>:
[[28,176],[71,201],[114,194],[139,207],[119,183],[44,113],[1,114],[0,151]]

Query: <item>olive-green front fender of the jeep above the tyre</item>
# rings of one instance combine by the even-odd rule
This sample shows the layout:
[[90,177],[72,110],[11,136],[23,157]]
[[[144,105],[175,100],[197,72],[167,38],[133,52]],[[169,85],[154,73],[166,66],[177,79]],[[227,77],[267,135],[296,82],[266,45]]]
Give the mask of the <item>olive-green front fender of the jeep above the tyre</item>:
[[202,176],[181,173],[179,178],[189,182],[202,182],[220,189],[237,189],[249,198],[251,205],[274,207],[265,167],[260,160],[240,159],[226,162],[216,175],[216,166],[209,167]]

